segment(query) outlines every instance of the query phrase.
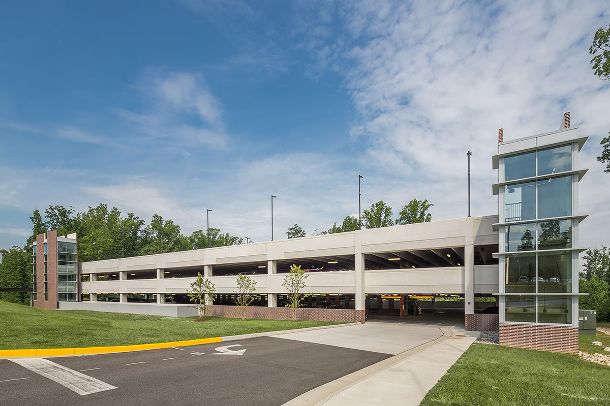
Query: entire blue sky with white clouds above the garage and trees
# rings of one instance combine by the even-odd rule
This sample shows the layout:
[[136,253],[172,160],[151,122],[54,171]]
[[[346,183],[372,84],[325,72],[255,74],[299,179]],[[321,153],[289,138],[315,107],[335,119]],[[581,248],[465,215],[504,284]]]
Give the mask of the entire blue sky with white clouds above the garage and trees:
[[0,14],[0,247],[34,208],[107,203],[190,234],[311,234],[385,200],[497,213],[497,130],[589,141],[581,245],[610,244],[610,83],[588,49],[607,3],[13,2]]

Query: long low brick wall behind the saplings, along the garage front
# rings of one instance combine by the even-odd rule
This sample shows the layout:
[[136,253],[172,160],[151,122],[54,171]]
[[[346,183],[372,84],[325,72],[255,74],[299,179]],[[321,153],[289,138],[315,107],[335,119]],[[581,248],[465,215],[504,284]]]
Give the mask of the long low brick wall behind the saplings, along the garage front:
[[[211,309],[207,309],[206,314],[216,317],[242,317],[237,306],[214,305]],[[289,307],[249,306],[244,315],[246,318],[268,320],[292,320],[293,318],[292,309]],[[296,309],[296,320],[361,321],[364,323],[364,310],[299,307]]]

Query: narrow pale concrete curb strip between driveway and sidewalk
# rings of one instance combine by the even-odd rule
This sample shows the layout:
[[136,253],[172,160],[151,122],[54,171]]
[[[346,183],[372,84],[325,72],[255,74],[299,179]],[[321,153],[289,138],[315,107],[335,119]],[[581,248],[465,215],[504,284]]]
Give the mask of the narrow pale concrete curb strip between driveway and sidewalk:
[[434,340],[428,341],[427,343],[420,344],[415,346],[414,348],[407,349],[407,351],[403,351],[400,354],[393,355],[393,357],[389,357],[383,361],[378,363],[374,363],[373,365],[369,365],[366,368],[359,369],[351,374],[347,374],[346,376],[340,377],[336,380],[331,380],[331,382],[327,382],[320,387],[314,388],[306,393],[301,394],[300,396],[291,399],[288,402],[285,402],[282,406],[301,406],[304,404],[311,406],[320,406],[324,404],[328,399],[335,396],[336,394],[341,393],[347,388],[356,385],[356,383],[361,382],[371,376],[374,376],[381,371],[390,368],[391,366],[397,365],[398,363],[406,360],[412,355],[417,354],[418,352],[422,352],[425,349],[430,348],[431,346],[442,343],[447,340],[447,338],[453,336],[453,330],[451,327],[447,326],[438,326],[440,332],[442,333],[439,337]]

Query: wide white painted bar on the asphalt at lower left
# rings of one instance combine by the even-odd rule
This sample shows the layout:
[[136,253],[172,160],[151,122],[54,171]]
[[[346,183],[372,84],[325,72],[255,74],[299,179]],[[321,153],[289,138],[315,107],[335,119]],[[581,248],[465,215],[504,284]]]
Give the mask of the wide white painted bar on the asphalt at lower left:
[[63,365],[59,365],[44,358],[28,358],[11,361],[38,375],[51,379],[80,395],[117,389],[117,387],[114,387],[109,383],[81,374],[73,369],[66,368]]

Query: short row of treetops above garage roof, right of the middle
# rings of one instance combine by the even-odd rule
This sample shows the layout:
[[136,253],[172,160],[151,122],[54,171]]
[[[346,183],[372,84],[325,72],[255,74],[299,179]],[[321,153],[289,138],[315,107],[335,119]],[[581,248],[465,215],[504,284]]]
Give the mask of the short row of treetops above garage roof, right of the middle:
[[[413,223],[424,223],[432,221],[432,214],[428,212],[431,208],[432,203],[428,203],[428,200],[417,200],[413,199],[404,205],[398,213],[398,218],[392,220],[392,208],[387,205],[383,200],[379,200],[373,203],[370,208],[362,211],[362,226],[364,228],[379,228],[389,227],[393,225],[413,224]],[[312,236],[318,236],[320,234],[336,234],[345,233],[346,231],[356,231],[360,229],[358,219],[353,215],[348,215],[343,219],[340,225],[335,222],[328,230],[315,230]],[[305,231],[300,225],[296,224],[290,227],[286,231],[288,238],[304,237]]]

